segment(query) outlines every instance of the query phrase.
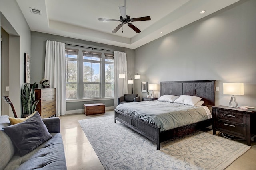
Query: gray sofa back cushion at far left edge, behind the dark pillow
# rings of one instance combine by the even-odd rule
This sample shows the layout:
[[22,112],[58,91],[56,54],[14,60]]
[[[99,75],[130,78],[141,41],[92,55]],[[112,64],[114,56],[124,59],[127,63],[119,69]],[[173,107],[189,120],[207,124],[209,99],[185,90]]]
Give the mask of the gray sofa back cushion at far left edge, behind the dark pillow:
[[2,129],[6,126],[10,126],[8,116],[0,116],[0,170],[4,169],[17,150],[10,137]]

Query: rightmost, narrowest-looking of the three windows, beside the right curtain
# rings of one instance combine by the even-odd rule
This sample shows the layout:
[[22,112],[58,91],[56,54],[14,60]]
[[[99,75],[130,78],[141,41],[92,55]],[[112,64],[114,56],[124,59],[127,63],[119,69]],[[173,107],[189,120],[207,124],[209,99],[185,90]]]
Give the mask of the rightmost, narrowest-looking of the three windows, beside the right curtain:
[[105,96],[114,96],[114,56],[105,54]]

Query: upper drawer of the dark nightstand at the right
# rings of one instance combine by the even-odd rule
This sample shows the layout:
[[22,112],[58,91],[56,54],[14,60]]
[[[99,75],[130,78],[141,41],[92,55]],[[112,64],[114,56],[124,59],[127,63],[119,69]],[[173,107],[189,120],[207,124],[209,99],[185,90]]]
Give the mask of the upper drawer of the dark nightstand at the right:
[[244,114],[218,110],[218,119],[224,119],[236,123],[244,123]]

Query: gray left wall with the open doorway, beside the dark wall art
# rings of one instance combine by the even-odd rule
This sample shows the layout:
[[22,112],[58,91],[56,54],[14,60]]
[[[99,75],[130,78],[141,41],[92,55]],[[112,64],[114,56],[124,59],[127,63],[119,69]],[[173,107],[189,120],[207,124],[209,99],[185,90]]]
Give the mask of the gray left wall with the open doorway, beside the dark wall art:
[[[28,24],[16,0],[0,0],[0,26],[9,34],[9,97],[20,117],[22,113],[20,94],[23,86],[24,53],[30,54],[31,37]],[[0,57],[2,58],[1,53]],[[0,100],[0,103],[2,101]],[[4,114],[8,115],[8,113]],[[13,117],[10,107],[9,115]]]

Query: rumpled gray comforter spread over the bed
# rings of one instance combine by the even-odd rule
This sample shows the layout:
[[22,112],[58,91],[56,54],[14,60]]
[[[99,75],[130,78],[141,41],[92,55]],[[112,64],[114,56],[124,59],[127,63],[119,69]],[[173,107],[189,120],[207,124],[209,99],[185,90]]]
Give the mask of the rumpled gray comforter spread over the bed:
[[160,101],[120,104],[116,110],[161,127],[160,131],[209,119],[203,107]]

